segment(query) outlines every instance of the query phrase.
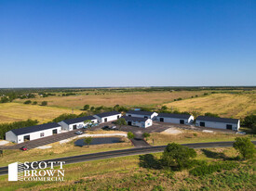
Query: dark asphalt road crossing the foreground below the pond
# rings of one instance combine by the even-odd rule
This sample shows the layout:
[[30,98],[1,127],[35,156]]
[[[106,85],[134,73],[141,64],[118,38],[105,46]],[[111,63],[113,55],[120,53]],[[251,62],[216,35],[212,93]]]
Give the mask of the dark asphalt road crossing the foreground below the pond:
[[[209,148],[209,147],[229,147],[233,146],[234,142],[211,142],[211,143],[195,143],[195,144],[182,144],[182,146],[189,146],[193,148]],[[252,141],[256,145],[256,141]],[[123,150],[106,151],[99,153],[92,153],[86,155],[79,155],[73,157],[59,158],[59,159],[48,159],[44,161],[65,161],[65,164],[72,164],[82,161],[97,160],[97,159],[109,159],[116,157],[124,157],[131,155],[140,155],[147,153],[163,152],[166,146],[148,146],[148,147],[135,147]],[[7,174],[8,168],[1,167],[0,175]]]

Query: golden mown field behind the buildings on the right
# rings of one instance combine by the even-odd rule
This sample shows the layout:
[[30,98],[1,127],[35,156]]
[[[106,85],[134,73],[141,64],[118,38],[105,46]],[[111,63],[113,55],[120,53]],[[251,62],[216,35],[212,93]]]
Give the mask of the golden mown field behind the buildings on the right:
[[244,118],[256,113],[256,94],[212,94],[165,104],[168,108],[179,111],[197,111],[219,114],[227,118]]

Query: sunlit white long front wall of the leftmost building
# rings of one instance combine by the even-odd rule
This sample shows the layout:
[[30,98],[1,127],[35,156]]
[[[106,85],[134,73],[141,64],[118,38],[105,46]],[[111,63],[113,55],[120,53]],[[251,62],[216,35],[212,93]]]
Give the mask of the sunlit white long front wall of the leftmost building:
[[[46,136],[53,135],[52,130],[55,130],[55,129],[57,129],[58,134],[61,134],[61,126],[59,126],[59,127],[55,127],[55,128],[52,128],[52,129],[38,131],[38,132],[30,133],[30,134],[20,134],[20,135],[18,135],[17,143],[24,142],[24,136],[26,136],[26,135],[30,135],[30,140],[31,141],[34,140],[34,139],[39,139],[39,138],[43,138],[43,137],[46,137]],[[42,133],[44,133],[43,137],[40,136],[40,134],[42,134]]]

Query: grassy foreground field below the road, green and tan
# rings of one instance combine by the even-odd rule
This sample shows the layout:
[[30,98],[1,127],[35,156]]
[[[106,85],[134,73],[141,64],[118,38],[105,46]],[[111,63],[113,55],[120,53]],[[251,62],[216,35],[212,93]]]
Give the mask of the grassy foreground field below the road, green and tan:
[[[234,148],[196,149],[196,159],[211,162],[237,156]],[[161,154],[153,154],[160,159]],[[224,157],[222,157],[224,156]],[[140,156],[100,159],[64,165],[64,182],[8,182],[7,175],[0,177],[1,190],[254,190],[253,164],[236,161],[233,170],[194,176],[187,170],[144,169]],[[125,165],[124,165],[125,164]],[[111,168],[110,168],[111,167]]]

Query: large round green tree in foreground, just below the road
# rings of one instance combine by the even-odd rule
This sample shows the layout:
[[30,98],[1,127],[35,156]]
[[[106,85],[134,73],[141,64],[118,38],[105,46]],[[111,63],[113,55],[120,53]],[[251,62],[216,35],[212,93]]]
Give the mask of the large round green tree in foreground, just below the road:
[[196,152],[194,148],[171,143],[165,148],[161,160],[163,166],[182,170],[189,168],[192,164],[192,159],[195,157]]

